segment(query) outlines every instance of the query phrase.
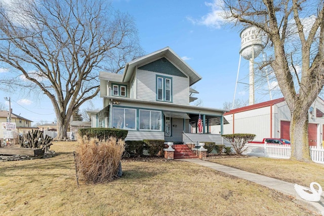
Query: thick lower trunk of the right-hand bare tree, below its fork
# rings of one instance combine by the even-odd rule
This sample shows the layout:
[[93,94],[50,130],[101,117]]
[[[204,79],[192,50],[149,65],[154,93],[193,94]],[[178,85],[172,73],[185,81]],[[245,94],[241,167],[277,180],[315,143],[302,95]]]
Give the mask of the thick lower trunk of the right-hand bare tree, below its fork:
[[[298,112],[300,111],[300,112]],[[291,114],[290,140],[292,160],[311,162],[308,144],[308,110],[298,109]]]

